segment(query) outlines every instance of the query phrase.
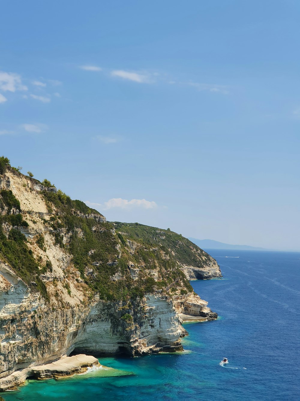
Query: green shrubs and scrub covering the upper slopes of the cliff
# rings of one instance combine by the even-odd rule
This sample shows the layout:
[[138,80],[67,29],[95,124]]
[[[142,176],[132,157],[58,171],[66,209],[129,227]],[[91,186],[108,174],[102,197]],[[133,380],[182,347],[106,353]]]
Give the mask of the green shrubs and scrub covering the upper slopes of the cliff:
[[[0,159],[3,159],[0,166],[4,164],[2,175],[6,170],[12,172],[9,160]],[[22,186],[27,187],[28,182],[43,185],[39,187],[44,188],[39,196],[42,196],[48,213],[39,215],[42,232],[35,234],[34,239],[33,236],[26,238],[22,233],[22,227],[28,227],[24,219],[26,211],[21,211],[20,201],[11,190],[2,189],[0,256],[45,298],[48,296],[41,275],[51,272],[52,264],[43,233],[50,233],[53,245],[70,257],[73,272],[79,272],[76,281],[85,283],[100,299],[128,302],[154,291],[170,296],[192,292],[180,265],[202,267],[209,255],[182,235],[138,223],[107,222],[101,213],[82,201],[72,200],[61,190],[56,191],[50,181],[45,179],[41,183],[32,178],[32,173],[26,177],[15,170],[12,173],[26,179],[27,184]],[[33,189],[24,189],[28,190]],[[45,256],[43,263],[41,254],[32,252],[33,243]]]

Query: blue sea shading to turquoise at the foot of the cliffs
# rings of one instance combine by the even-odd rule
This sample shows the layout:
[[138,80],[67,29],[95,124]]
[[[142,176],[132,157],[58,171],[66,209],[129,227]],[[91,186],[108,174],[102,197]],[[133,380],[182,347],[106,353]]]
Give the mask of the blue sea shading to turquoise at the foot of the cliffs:
[[[219,318],[186,323],[185,352],[100,358],[114,369],[61,381],[30,380],[1,395],[7,401],[299,400],[300,253],[210,254],[223,279],[191,284]],[[219,365],[223,357],[226,367]]]

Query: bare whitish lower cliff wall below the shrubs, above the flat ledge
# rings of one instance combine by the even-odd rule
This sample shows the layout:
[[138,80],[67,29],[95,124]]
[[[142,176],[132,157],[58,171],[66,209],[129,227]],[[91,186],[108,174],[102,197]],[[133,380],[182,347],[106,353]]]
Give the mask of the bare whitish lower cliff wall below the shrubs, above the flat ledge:
[[[0,378],[72,351],[142,355],[182,349],[180,319],[166,296],[148,294],[125,309],[122,302],[97,298],[54,309],[4,263],[0,283]],[[129,320],[122,319],[125,314]]]

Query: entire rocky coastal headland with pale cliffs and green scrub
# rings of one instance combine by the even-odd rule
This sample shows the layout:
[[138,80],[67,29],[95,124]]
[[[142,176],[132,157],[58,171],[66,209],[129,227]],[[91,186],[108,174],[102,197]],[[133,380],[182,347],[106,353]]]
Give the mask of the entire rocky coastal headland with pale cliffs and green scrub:
[[187,333],[181,314],[217,317],[188,280],[220,277],[220,269],[186,238],[137,223],[109,223],[53,186],[10,166],[5,170],[0,389],[71,352],[182,350],[180,337]]

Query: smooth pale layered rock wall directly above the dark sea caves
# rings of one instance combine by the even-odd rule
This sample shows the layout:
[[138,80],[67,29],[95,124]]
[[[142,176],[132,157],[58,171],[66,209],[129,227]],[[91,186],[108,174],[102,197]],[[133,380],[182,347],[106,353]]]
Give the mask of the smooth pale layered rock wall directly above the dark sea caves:
[[[84,328],[80,330],[75,352],[115,354],[150,353],[154,348],[172,346],[179,340],[180,320],[172,301],[165,296],[146,295],[132,310],[119,310],[120,303],[98,301],[92,304]],[[132,322],[122,320],[130,312]]]

